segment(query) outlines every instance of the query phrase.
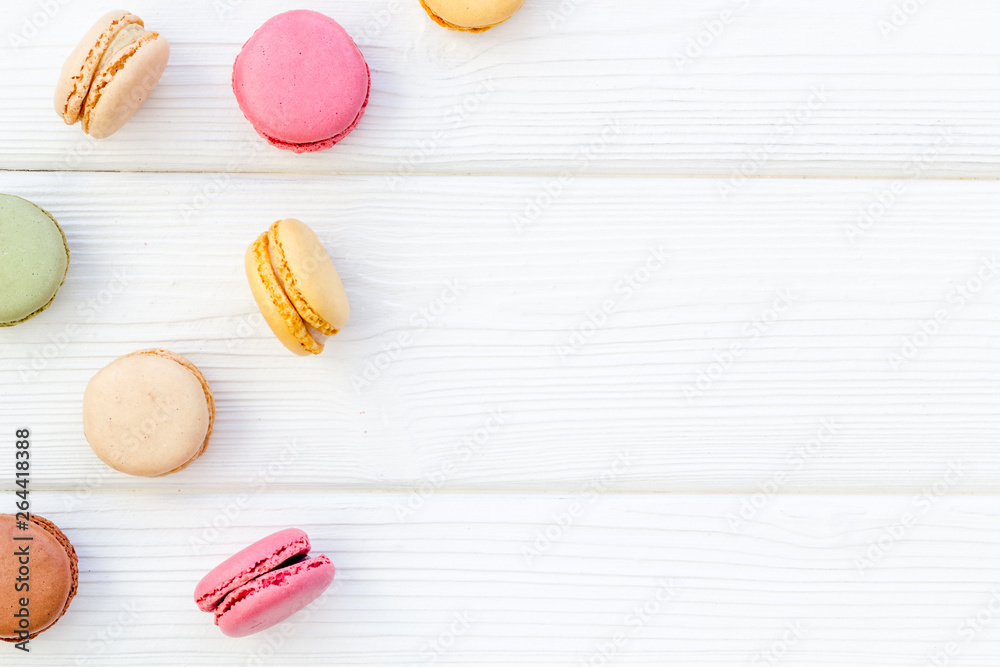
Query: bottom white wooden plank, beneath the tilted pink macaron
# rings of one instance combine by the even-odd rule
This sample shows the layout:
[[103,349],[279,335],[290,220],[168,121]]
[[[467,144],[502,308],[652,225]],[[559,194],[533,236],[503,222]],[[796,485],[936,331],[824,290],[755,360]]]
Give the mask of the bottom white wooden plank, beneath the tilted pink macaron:
[[[80,591],[31,664],[579,665],[609,644],[622,665],[910,667],[954,644],[954,664],[990,667],[1000,654],[992,498],[921,513],[909,497],[784,496],[733,532],[731,496],[447,494],[400,522],[405,496],[268,492],[219,521],[231,495],[109,493],[66,511],[47,494],[38,510],[76,545]],[[223,637],[195,584],[290,525],[334,561],[335,589],[271,632]]]

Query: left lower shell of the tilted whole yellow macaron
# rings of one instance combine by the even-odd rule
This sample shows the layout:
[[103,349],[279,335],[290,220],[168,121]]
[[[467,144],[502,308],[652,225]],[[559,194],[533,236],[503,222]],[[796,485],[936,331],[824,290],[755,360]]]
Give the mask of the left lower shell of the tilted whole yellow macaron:
[[321,353],[323,344],[312,337],[295,306],[278,284],[268,251],[267,232],[257,237],[247,248],[244,266],[254,301],[281,344],[299,356]]

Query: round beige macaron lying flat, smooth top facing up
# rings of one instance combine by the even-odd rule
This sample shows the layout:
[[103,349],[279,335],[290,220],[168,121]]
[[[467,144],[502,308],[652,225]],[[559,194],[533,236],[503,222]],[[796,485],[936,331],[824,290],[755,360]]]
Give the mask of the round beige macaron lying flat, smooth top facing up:
[[198,367],[166,350],[120,357],[83,395],[83,432],[98,458],[141,477],[177,472],[212,437],[215,399]]

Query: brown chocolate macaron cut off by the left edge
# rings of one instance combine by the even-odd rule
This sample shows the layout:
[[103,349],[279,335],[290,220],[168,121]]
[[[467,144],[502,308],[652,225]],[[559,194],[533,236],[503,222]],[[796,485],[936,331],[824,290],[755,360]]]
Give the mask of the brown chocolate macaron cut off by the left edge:
[[0,640],[34,639],[62,618],[76,595],[76,550],[48,519],[0,514],[0,581]]

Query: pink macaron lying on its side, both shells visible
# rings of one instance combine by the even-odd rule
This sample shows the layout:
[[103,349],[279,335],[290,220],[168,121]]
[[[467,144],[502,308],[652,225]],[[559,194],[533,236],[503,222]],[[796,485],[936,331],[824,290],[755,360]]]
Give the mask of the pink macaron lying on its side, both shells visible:
[[309,557],[309,536],[298,528],[269,535],[226,559],[194,589],[202,611],[229,637],[266,630],[305,608],[333,582],[333,563]]

